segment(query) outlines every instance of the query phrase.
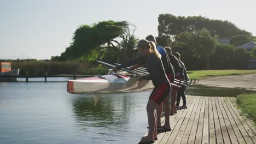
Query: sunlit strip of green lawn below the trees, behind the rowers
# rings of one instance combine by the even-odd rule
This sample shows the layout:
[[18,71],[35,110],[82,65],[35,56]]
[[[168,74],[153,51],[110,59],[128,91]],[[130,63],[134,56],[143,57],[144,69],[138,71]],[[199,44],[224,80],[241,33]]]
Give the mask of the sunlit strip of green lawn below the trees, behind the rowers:
[[226,76],[226,75],[243,75],[243,74],[256,74],[256,69],[254,70],[194,70],[188,71],[190,79],[205,79],[209,77],[216,76]]

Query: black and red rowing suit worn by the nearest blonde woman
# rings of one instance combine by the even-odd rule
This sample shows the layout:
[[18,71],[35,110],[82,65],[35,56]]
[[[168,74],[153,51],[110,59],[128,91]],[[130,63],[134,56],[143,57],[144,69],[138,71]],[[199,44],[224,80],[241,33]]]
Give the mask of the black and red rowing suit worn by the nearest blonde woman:
[[146,65],[149,75],[143,75],[141,79],[152,80],[155,88],[150,94],[149,99],[160,104],[171,92],[170,82],[165,74],[161,59],[154,53],[147,57]]

